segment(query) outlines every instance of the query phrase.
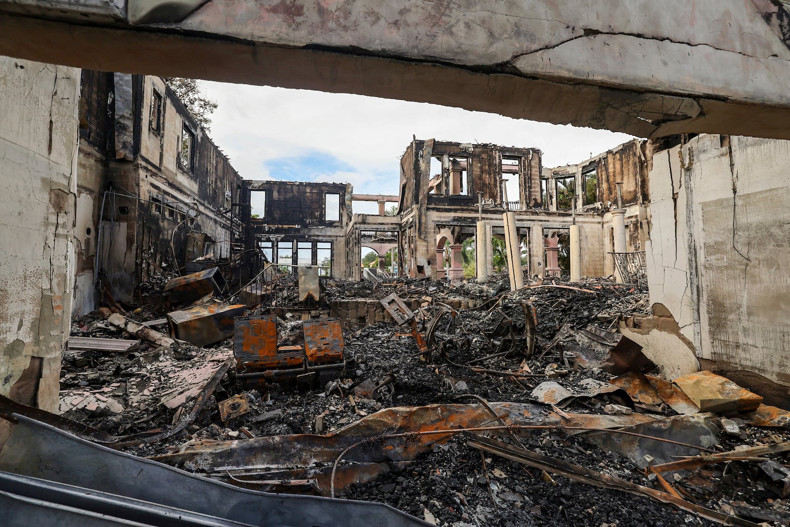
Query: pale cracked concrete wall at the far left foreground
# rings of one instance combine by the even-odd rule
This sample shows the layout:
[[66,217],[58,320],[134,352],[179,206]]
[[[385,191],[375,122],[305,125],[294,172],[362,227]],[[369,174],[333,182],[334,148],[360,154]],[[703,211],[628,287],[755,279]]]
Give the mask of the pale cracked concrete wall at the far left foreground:
[[[0,57],[0,393],[58,411],[69,335],[80,70]],[[8,432],[0,420],[0,445]]]

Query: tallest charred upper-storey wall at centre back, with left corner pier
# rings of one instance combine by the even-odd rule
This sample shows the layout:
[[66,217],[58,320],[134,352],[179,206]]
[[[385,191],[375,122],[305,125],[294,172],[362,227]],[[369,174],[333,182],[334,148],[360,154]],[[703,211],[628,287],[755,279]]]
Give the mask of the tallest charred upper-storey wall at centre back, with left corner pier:
[[540,208],[542,169],[539,149],[412,141],[401,157],[399,268],[405,264],[412,277],[438,277],[440,231],[454,228],[448,239],[461,243],[466,218],[474,224],[481,199],[487,214]]

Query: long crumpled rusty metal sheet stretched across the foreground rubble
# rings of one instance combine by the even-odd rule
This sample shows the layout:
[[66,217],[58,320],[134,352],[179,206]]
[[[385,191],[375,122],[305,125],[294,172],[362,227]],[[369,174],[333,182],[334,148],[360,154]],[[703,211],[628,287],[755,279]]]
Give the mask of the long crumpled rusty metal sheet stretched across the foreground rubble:
[[[491,403],[483,405],[427,405],[386,408],[363,417],[331,435],[278,435],[235,441],[207,441],[181,452],[155,457],[168,465],[216,477],[228,475],[246,480],[318,481],[319,492],[329,495],[329,474],[337,457],[349,446],[344,463],[338,466],[335,488],[347,487],[374,478],[387,464],[408,462],[446,442],[450,433],[416,435],[412,439],[380,439],[382,435],[404,432],[444,431],[487,426],[502,416],[506,424],[624,427],[653,420],[649,416],[595,416],[551,412],[546,405],[533,403]],[[508,431],[492,431],[507,435]],[[348,462],[351,462],[347,464]],[[239,484],[226,479],[228,483]]]

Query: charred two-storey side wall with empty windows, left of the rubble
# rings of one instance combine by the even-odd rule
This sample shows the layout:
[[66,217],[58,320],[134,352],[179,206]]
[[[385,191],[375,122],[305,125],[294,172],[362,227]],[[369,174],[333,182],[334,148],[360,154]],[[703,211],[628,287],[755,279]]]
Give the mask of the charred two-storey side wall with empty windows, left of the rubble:
[[94,275],[130,300],[151,273],[230,256],[241,177],[160,77],[85,71],[80,112],[79,232],[99,254],[80,254],[77,314],[96,307]]

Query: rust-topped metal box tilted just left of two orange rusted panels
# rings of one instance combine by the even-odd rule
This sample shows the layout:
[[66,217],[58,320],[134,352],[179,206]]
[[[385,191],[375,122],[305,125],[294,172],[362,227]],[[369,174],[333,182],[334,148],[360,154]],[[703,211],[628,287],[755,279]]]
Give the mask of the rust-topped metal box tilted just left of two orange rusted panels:
[[171,335],[196,346],[208,346],[233,336],[233,319],[241,317],[246,306],[205,303],[167,314]]

